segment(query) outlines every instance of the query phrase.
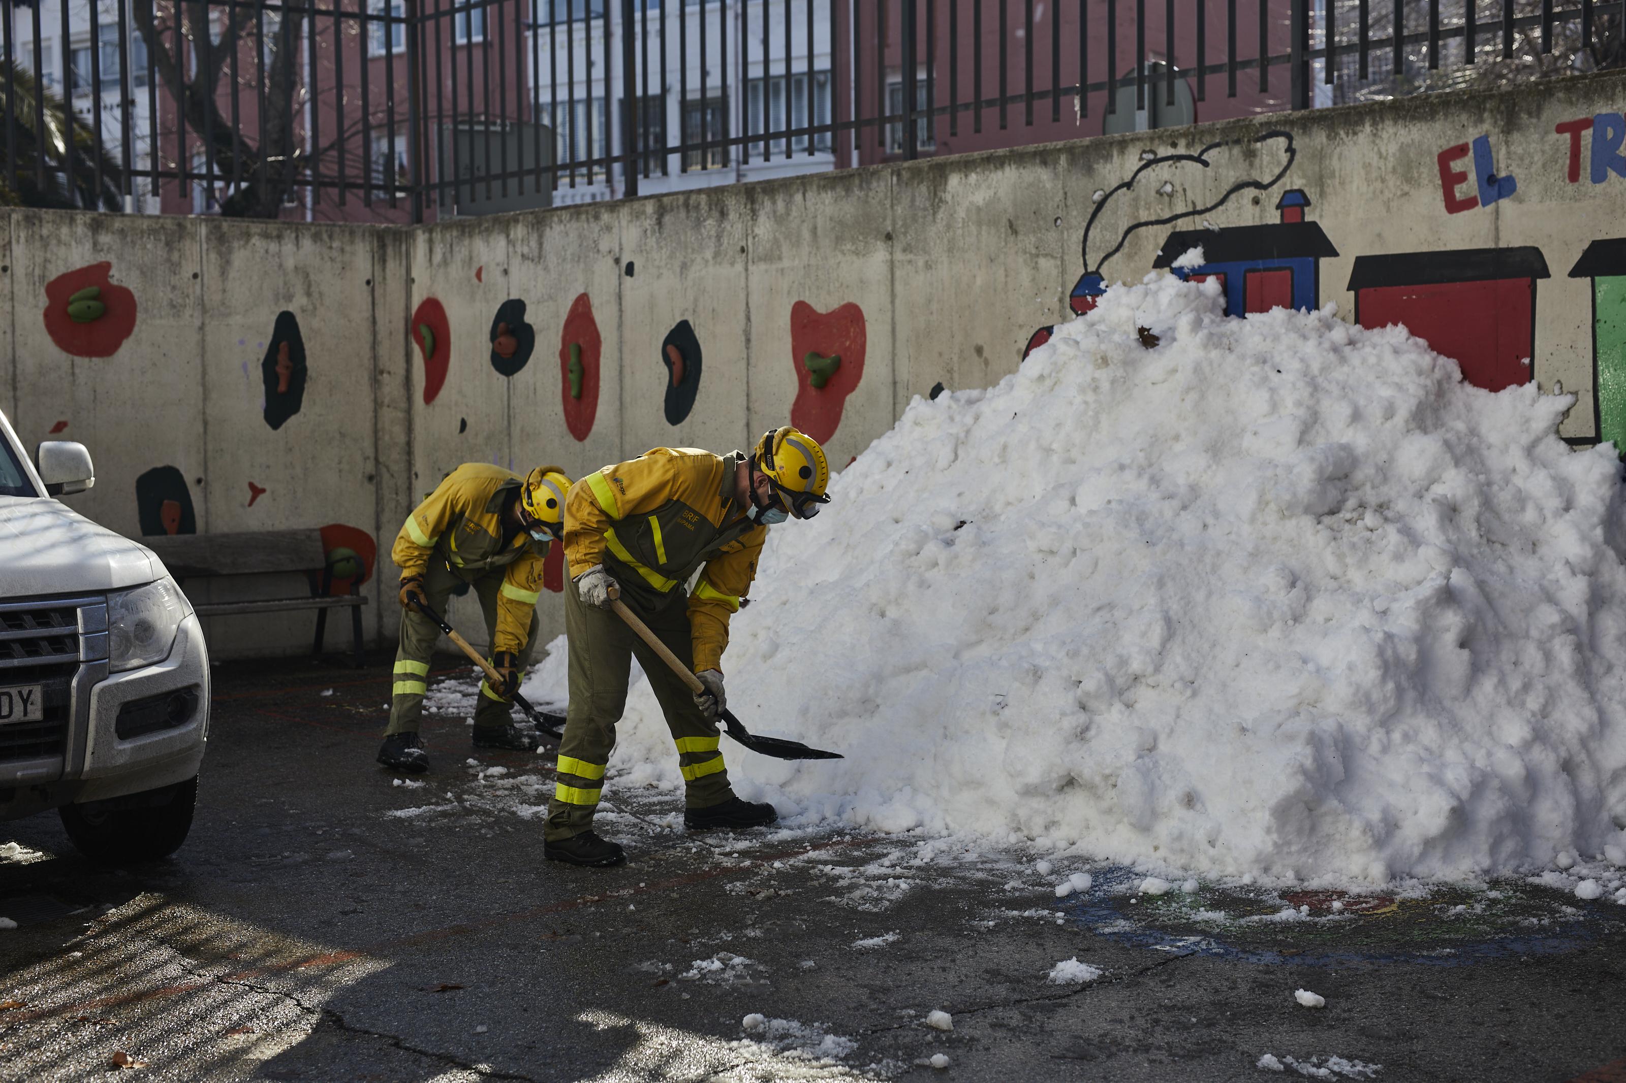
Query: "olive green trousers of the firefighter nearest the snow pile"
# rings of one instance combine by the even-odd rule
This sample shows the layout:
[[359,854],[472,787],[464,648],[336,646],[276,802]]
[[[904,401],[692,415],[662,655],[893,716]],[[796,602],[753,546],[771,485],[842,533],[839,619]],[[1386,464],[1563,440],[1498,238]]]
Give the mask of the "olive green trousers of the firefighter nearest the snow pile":
[[[683,591],[673,591],[659,611],[637,615],[685,666],[693,662]],[[733,797],[728,771],[717,749],[717,727],[694,706],[689,687],[667,669],[660,656],[621,617],[584,602],[574,583],[564,588],[564,633],[571,645],[571,706],[566,711],[564,740],[559,744],[559,781],[548,804],[543,838],[566,839],[593,823],[598,796],[603,792],[605,765],[615,749],[615,724],[626,710],[633,658],[644,667],[650,690],[667,716],[672,740],[678,745],[688,807],[704,809]]]

